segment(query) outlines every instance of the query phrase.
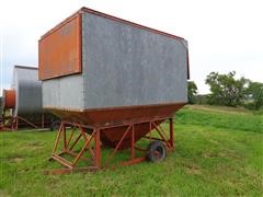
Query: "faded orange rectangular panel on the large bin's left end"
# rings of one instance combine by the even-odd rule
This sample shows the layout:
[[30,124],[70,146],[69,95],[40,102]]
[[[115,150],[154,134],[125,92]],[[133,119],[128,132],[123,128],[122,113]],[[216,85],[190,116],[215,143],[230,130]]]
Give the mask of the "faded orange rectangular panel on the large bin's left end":
[[42,37],[38,44],[39,79],[81,72],[81,14]]

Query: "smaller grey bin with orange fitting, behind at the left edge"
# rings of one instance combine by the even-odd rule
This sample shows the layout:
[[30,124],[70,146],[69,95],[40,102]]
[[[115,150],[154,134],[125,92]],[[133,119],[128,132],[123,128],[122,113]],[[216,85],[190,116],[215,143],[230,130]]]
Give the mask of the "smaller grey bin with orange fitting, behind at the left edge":
[[46,128],[55,119],[43,111],[42,82],[34,67],[14,66],[11,90],[3,90],[1,103],[1,121],[5,128]]

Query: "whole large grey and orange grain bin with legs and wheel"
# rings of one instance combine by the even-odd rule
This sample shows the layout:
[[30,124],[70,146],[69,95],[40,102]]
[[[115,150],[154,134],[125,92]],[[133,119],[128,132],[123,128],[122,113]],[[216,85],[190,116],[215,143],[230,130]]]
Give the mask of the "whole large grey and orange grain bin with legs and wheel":
[[[187,103],[184,38],[82,8],[38,44],[43,105],[62,119],[52,158],[67,166],[65,171],[76,170],[85,150],[94,161],[91,169],[107,166],[118,150],[128,148],[130,160],[122,164],[140,162],[146,157],[135,157],[135,143],[141,138],[151,140],[150,160],[162,160],[165,150],[173,149],[172,117]],[[167,119],[170,138],[159,127]],[[77,141],[67,135],[68,125],[80,130]],[[152,141],[152,130],[159,141]],[[72,150],[81,136],[85,143],[77,153]],[[60,138],[64,150],[58,154]],[[101,143],[114,148],[104,164]],[[66,153],[75,160],[62,158]]]

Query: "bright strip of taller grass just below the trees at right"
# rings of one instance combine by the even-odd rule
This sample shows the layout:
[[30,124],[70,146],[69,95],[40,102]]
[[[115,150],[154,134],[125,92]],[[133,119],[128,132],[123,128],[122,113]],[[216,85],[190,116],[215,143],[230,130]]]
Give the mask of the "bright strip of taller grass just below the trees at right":
[[176,114],[176,120],[184,125],[263,132],[263,115],[231,107],[186,106]]

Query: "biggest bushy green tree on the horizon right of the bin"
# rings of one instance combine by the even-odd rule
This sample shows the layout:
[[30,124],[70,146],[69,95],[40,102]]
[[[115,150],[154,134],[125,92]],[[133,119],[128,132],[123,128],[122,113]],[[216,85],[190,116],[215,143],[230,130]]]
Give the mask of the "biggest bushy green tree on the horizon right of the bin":
[[219,74],[211,72],[206,78],[206,84],[210,86],[211,94],[208,96],[208,103],[215,105],[237,106],[241,105],[245,96],[244,78],[235,79],[236,72]]

